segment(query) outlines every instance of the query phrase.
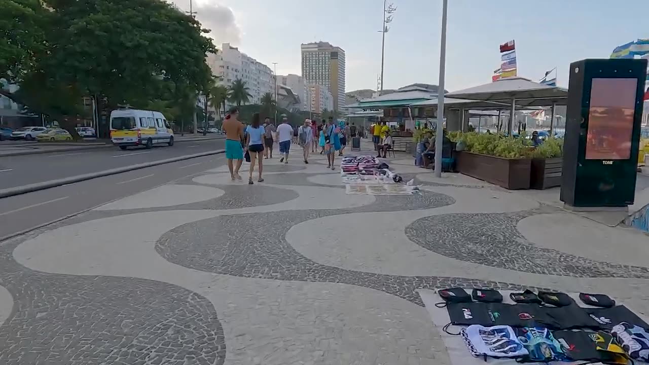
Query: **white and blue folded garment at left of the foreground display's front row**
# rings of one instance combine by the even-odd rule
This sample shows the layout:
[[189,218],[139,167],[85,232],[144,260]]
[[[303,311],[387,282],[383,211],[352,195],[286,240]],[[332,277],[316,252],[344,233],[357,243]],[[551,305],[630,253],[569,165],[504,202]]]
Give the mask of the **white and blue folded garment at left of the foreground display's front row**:
[[462,329],[462,339],[475,357],[522,357],[528,350],[509,326],[470,325]]

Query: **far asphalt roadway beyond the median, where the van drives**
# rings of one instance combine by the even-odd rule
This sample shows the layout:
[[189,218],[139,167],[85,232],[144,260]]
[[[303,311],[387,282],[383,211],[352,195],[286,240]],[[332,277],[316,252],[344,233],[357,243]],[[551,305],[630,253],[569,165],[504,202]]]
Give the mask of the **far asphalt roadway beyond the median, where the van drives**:
[[117,147],[107,147],[0,157],[0,189],[223,148],[225,148],[225,140],[215,139],[183,142],[172,147],[165,145],[153,149],[130,147],[127,151],[122,151]]

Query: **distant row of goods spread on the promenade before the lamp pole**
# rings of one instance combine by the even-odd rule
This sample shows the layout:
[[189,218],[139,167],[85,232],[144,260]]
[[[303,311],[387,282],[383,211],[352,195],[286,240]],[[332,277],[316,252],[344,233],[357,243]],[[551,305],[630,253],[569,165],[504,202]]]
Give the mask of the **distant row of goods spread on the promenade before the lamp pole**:
[[389,170],[385,162],[374,156],[343,157],[340,175],[347,194],[411,195],[420,194],[417,186],[403,183],[403,179]]

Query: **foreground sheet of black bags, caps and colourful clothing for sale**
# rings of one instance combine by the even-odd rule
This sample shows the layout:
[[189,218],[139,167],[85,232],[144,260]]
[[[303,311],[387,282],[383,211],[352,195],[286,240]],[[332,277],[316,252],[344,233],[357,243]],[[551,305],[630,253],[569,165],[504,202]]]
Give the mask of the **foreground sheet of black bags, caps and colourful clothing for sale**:
[[649,361],[649,325],[604,294],[418,292],[454,365]]

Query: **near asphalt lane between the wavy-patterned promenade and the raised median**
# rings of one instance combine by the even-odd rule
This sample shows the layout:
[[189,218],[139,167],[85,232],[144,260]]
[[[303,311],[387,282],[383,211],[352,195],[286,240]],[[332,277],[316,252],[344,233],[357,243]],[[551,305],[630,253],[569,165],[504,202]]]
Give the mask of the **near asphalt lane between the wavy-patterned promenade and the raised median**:
[[0,198],[0,240],[223,163],[221,153]]

